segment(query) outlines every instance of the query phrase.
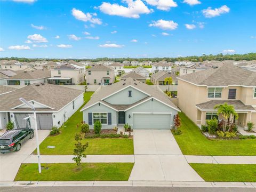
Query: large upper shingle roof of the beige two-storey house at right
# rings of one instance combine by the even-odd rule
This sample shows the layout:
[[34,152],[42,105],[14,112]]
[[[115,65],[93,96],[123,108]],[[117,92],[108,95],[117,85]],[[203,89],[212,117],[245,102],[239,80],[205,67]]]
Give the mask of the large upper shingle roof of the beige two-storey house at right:
[[178,79],[196,85],[207,86],[256,86],[256,73],[250,70],[241,69],[230,63],[221,67],[211,68],[196,73],[179,76]]

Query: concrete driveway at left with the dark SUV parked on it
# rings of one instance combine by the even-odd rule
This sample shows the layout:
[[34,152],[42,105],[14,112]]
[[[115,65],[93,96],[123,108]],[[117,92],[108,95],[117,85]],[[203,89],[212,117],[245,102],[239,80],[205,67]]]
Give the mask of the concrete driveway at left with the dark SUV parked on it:
[[[38,130],[39,143],[41,143],[50,130]],[[24,162],[36,148],[36,137],[28,140],[22,146],[20,151],[0,154],[0,181],[13,181],[20,164]]]

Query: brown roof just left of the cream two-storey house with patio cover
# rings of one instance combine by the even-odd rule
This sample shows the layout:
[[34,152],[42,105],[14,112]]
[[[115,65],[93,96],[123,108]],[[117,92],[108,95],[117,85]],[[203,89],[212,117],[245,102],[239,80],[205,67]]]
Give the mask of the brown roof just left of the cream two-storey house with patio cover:
[[9,77],[9,79],[40,79],[51,77],[51,72],[49,70],[30,70],[23,71],[23,73],[18,73],[17,75]]

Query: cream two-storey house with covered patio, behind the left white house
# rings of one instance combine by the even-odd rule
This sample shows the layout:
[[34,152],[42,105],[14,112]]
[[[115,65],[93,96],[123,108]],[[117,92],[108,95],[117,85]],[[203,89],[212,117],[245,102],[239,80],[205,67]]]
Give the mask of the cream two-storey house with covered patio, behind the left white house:
[[48,83],[53,85],[78,85],[85,82],[85,66],[63,64],[51,69]]

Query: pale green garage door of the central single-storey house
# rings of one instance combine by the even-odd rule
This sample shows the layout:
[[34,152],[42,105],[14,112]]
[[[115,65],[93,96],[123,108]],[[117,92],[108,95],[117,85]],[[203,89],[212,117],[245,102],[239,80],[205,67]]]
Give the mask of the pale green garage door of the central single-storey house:
[[133,129],[170,129],[171,114],[133,114]]

